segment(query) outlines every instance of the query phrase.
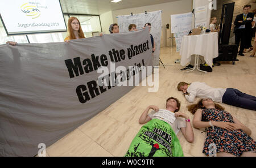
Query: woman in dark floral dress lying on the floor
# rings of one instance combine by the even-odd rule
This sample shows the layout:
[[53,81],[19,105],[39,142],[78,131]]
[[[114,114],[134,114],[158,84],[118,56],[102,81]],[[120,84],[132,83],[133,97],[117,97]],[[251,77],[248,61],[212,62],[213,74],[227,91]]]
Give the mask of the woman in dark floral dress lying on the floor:
[[250,137],[251,130],[243,125],[224,107],[214,104],[212,99],[201,99],[197,104],[188,105],[188,111],[194,114],[193,127],[208,128],[203,153],[207,156],[254,156],[255,141]]

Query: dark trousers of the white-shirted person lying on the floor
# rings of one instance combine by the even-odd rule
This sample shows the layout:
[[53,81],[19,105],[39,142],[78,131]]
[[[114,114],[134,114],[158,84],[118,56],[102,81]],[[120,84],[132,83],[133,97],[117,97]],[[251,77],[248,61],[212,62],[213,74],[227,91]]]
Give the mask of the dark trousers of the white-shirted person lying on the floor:
[[256,97],[242,93],[237,89],[227,88],[222,97],[224,104],[256,111]]

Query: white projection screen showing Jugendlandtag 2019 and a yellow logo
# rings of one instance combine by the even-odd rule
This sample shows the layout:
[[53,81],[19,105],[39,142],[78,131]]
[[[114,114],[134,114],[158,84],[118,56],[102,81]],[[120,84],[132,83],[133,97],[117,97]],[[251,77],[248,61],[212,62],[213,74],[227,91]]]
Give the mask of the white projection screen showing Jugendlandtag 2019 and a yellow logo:
[[59,0],[1,0],[7,35],[67,31]]

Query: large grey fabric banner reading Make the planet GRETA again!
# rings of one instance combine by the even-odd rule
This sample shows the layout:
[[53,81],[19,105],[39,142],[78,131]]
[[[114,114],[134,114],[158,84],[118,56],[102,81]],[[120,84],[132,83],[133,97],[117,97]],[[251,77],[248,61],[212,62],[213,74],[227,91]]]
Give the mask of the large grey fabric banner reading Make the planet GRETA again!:
[[[148,29],[69,42],[0,45],[0,156],[35,156],[133,86],[99,85],[97,71],[129,81],[152,65]],[[110,70],[125,67],[125,73]],[[118,78],[118,76],[121,77]],[[142,80],[142,79],[141,79]]]

